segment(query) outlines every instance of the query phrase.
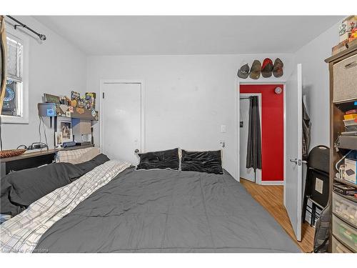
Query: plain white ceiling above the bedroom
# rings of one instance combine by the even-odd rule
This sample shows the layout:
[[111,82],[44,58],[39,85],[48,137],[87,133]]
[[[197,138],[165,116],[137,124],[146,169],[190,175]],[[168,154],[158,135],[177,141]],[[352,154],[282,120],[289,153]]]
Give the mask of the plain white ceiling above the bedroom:
[[343,16],[34,18],[89,55],[157,55],[293,53]]

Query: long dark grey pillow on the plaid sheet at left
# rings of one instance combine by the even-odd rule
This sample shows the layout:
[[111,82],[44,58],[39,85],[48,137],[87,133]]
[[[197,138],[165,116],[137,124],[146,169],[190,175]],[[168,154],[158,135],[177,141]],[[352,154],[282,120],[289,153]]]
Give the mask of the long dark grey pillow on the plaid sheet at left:
[[36,200],[70,184],[108,160],[104,154],[99,154],[81,164],[54,163],[7,174],[0,184],[1,214],[14,217]]

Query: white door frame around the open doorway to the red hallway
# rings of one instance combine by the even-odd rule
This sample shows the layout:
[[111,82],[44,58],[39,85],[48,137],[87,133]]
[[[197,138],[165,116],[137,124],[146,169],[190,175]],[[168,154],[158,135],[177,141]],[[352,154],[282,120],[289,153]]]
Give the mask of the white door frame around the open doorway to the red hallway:
[[[240,147],[240,137],[239,137],[239,118],[238,118],[238,111],[239,111],[239,94],[241,85],[257,85],[261,86],[264,84],[270,85],[283,85],[283,182],[264,182],[262,181],[261,184],[263,185],[283,185],[283,204],[286,205],[286,82],[285,81],[270,81],[270,82],[263,82],[263,81],[240,81],[236,79],[236,155],[237,160],[239,159],[239,147]],[[236,174],[238,179],[239,175],[241,174],[240,167],[237,164]],[[239,180],[238,180],[239,181]]]

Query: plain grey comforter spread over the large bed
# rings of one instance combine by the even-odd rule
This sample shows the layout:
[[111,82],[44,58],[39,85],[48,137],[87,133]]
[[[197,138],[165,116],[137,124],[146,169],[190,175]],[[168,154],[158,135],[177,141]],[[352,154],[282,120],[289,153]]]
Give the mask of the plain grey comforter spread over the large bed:
[[36,251],[300,252],[228,172],[133,168],[50,227]]

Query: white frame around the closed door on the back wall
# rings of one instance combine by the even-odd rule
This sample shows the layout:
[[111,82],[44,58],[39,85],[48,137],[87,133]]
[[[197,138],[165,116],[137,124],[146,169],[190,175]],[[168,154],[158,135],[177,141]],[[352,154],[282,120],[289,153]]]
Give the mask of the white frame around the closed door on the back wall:
[[105,84],[140,84],[141,88],[141,148],[140,152],[145,152],[145,90],[143,79],[100,79],[99,81],[99,147],[103,152],[104,137],[104,113],[101,109],[104,107],[104,85]]

